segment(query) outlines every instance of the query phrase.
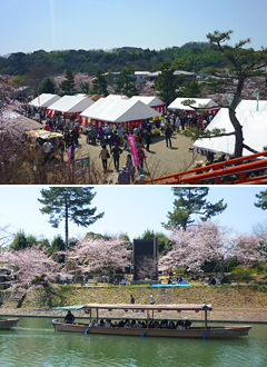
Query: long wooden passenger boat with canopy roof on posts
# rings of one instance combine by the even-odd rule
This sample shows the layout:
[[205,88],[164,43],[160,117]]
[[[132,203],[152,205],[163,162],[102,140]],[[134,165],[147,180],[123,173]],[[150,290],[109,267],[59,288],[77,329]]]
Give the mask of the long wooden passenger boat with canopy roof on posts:
[[[86,333],[86,334],[102,334],[102,335],[122,335],[122,336],[146,336],[146,337],[174,337],[174,338],[207,338],[207,339],[226,339],[247,336],[251,326],[215,326],[209,327],[207,325],[207,314],[212,310],[211,305],[100,305],[100,304],[86,304],[70,307],[56,307],[53,309],[61,310],[85,310],[89,318],[89,323],[73,323],[67,324],[60,320],[52,320],[51,324],[56,331],[70,331],[70,333]],[[202,327],[189,327],[186,329],[168,329],[168,328],[136,328],[136,327],[106,327],[106,326],[92,326],[89,324],[92,321],[92,311],[97,315],[97,320],[100,317],[101,310],[134,310],[135,313],[144,313],[144,318],[147,319],[147,325],[150,320],[155,319],[155,313],[161,311],[204,311],[204,326]],[[137,314],[132,314],[136,316]],[[145,317],[146,316],[146,317]],[[171,318],[170,318],[171,319]]]

